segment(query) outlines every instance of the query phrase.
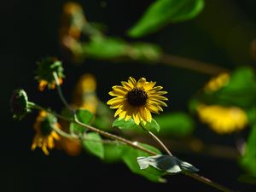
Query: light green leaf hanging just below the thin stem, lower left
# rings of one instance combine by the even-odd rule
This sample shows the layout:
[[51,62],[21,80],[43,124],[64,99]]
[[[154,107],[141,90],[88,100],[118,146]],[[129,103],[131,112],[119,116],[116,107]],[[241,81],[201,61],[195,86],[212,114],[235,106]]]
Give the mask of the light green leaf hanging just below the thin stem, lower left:
[[96,132],[90,132],[84,134],[83,139],[84,148],[88,149],[91,154],[95,154],[97,157],[104,158],[104,146],[102,143],[102,137]]

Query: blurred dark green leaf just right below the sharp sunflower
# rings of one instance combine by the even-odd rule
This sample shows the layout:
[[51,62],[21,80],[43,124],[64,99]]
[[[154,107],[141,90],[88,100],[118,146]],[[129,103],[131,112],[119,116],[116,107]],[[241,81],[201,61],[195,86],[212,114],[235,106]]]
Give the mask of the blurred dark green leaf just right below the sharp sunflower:
[[194,120],[187,113],[166,113],[154,119],[160,125],[161,135],[185,137],[194,130]]

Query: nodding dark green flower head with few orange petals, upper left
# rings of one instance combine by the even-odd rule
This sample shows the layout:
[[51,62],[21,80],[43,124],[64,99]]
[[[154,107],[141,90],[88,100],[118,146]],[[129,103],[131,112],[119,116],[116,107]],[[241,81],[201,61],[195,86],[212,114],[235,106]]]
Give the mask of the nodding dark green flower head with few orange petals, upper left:
[[61,61],[58,61],[55,57],[46,57],[41,61],[38,61],[37,76],[38,89],[43,91],[46,86],[49,89],[55,89],[55,77],[53,73],[56,73],[59,80],[59,84],[62,84],[64,74]]

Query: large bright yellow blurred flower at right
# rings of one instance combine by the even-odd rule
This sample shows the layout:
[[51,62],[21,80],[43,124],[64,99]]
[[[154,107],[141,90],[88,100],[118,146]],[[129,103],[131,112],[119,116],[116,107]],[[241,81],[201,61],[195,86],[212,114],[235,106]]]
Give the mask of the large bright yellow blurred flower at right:
[[218,134],[241,131],[247,125],[247,114],[237,107],[200,104],[197,113]]

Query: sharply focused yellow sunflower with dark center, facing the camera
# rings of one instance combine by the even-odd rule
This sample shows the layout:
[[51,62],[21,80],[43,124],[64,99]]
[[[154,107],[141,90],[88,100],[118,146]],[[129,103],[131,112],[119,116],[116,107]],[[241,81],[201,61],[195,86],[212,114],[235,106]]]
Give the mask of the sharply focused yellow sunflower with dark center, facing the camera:
[[154,86],[156,82],[148,82],[145,78],[136,81],[130,77],[121,84],[113,86],[109,92],[110,96],[115,96],[107,102],[110,108],[117,108],[114,117],[119,116],[126,121],[132,118],[137,125],[141,122],[145,125],[151,122],[151,112],[160,113],[163,111],[161,106],[167,106],[163,101],[168,99],[162,96],[167,92],[161,86]]

